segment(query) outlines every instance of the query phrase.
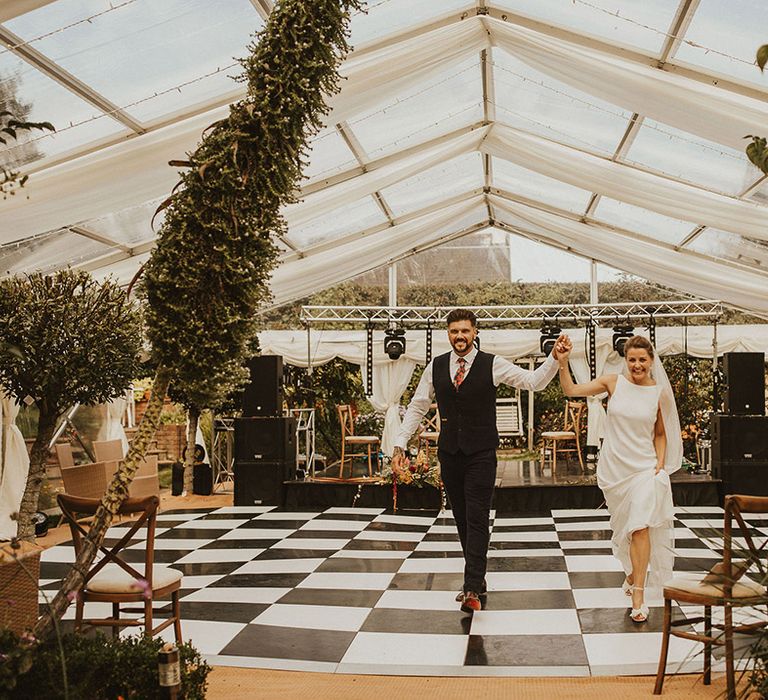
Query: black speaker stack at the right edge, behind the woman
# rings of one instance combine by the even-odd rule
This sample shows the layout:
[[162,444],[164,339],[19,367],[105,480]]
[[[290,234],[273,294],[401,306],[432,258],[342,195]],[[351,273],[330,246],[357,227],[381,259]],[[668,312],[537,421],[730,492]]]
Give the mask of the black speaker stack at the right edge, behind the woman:
[[768,417],[765,355],[730,352],[723,357],[725,414],[712,416],[712,475],[722,494],[768,496]]

